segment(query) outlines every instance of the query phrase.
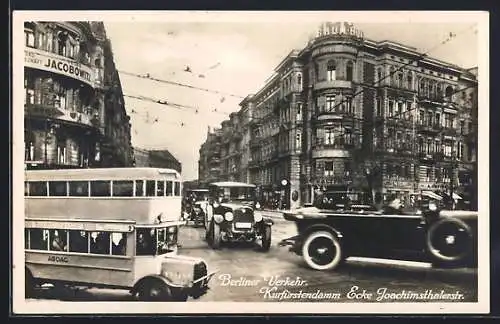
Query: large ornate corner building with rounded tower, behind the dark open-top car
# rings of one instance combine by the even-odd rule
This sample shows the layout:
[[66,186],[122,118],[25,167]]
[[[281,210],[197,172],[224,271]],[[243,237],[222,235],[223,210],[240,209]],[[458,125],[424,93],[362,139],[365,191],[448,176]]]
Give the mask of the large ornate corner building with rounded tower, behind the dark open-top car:
[[239,174],[281,207],[318,189],[374,199],[477,190],[477,69],[365,39],[353,24],[321,24],[240,106],[250,137]]

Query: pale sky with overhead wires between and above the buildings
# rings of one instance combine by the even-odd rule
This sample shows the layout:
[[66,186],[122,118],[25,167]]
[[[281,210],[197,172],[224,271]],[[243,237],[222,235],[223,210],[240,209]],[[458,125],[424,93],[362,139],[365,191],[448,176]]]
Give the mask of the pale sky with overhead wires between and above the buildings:
[[[168,149],[182,163],[183,178],[196,179],[198,150],[206,139],[208,126],[220,126],[230,112],[237,111],[242,97],[257,92],[292,49],[306,45],[321,22],[340,21],[324,12],[313,14],[313,19],[311,15],[304,17],[301,13],[282,16],[272,13],[268,19],[255,20],[240,13],[229,20],[188,16],[183,20],[155,22],[104,20],[119,71],[149,73],[157,79],[225,93],[158,83],[121,72],[125,95],[188,106],[176,108],[125,97],[132,123],[132,144],[146,149]],[[465,68],[477,66],[474,22],[443,19],[422,22],[409,17],[404,22],[367,19],[369,22],[354,21],[354,24],[365,38],[397,41]],[[442,44],[450,33],[456,36]],[[186,67],[191,72],[184,71]]]

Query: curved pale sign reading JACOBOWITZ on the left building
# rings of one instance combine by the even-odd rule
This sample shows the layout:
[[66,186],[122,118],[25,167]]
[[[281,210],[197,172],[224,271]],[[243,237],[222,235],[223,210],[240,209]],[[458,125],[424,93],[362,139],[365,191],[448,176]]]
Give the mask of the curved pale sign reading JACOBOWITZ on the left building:
[[52,53],[25,48],[24,66],[62,74],[94,86],[91,68]]

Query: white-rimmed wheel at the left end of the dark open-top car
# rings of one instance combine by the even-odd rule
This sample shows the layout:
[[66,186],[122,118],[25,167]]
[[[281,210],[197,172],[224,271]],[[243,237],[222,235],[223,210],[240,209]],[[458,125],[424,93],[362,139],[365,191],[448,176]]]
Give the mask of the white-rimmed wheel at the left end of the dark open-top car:
[[314,270],[332,270],[342,261],[342,248],[338,238],[328,231],[310,233],[302,245],[306,264]]

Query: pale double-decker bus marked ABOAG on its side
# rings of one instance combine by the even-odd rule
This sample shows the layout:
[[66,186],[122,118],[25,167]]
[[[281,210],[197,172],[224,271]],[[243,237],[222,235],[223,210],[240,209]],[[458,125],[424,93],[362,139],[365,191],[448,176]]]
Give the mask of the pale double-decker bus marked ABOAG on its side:
[[181,176],[171,169],[25,171],[25,292],[44,283],[186,301],[213,273],[177,254]]

